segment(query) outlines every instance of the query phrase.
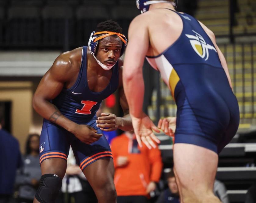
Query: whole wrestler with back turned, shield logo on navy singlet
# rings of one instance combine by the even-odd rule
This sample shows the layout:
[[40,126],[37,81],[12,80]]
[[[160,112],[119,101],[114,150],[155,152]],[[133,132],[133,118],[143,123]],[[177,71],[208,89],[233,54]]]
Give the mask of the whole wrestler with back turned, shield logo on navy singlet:
[[152,131],[157,128],[142,112],[146,56],[177,105],[173,156],[182,202],[220,202],[212,192],[218,153],[239,125],[226,60],[213,32],[192,16],[176,12],[174,2],[136,3],[143,14],[130,24],[123,82],[137,140],[149,147],[154,146],[152,139],[158,141]]

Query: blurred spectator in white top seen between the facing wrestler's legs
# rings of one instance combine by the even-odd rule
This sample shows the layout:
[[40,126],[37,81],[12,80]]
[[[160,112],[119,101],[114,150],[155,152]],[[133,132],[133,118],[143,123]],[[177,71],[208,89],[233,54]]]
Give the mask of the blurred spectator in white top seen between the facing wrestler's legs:
[[[72,201],[74,199],[74,201]],[[91,185],[86,180],[80,167],[76,164],[76,158],[70,147],[67,158],[67,170],[62,180],[61,193],[56,203],[96,203],[96,195]]]

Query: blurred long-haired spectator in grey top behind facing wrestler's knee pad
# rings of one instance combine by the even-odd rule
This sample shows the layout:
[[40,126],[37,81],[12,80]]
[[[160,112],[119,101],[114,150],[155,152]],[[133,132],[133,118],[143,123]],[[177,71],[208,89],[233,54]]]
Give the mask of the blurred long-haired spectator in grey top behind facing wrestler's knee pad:
[[23,167],[17,171],[16,184],[19,187],[19,202],[32,203],[39,186],[41,169],[39,164],[38,134],[30,134],[27,138],[26,152],[23,156]]

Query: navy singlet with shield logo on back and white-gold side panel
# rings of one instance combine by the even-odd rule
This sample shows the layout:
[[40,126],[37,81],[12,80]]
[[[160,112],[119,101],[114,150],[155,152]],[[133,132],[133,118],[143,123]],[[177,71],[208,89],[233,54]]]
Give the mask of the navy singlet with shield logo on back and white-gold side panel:
[[176,102],[175,143],[219,153],[238,129],[238,103],[217,50],[200,23],[186,13],[175,13],[183,21],[179,39],[147,59],[161,72]]

